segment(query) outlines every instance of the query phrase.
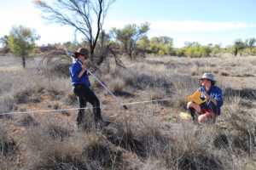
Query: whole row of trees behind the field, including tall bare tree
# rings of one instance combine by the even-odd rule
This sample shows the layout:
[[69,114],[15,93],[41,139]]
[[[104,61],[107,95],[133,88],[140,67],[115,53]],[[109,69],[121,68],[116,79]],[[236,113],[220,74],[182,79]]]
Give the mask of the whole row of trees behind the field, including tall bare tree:
[[[237,39],[233,45],[222,47],[221,44],[212,45],[209,43],[203,46],[198,42],[185,42],[184,47],[174,48],[172,37],[151,37],[147,36],[150,24],[142,23],[128,24],[123,28],[110,29],[109,32],[103,30],[104,19],[107,16],[109,6],[115,0],[34,0],[36,7],[44,12],[44,19],[61,25],[72,26],[74,32],[78,31],[84,35],[82,42],[64,42],[47,44],[47,46],[63,45],[74,49],[78,47],[90,48],[90,59],[100,65],[109,52],[127,55],[130,59],[146,54],[163,56],[187,56],[187,57],[207,57],[211,55],[221,55],[224,53],[240,55],[255,55],[255,38],[251,37],[244,42]],[[11,51],[20,56],[25,67],[26,57],[35,51],[39,36],[35,31],[25,26],[13,27],[9,35],[0,38],[0,43],[5,51]]]

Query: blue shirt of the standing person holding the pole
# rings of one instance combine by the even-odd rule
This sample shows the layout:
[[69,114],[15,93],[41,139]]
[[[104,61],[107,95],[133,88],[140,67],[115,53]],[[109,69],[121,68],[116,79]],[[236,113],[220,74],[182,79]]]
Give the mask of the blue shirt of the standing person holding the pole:
[[75,84],[84,84],[87,87],[90,87],[90,81],[87,74],[83,74],[82,77],[79,78],[79,73],[82,71],[82,65],[79,60],[73,61],[73,63],[69,67],[69,76],[73,85]]

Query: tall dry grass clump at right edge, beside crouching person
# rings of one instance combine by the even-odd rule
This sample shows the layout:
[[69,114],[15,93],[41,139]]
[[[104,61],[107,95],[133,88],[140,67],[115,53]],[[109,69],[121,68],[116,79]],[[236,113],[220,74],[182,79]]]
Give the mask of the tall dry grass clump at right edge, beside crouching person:
[[240,153],[241,150],[246,152],[249,156],[253,156],[253,147],[256,144],[255,126],[256,122],[254,111],[247,111],[246,108],[241,108],[241,98],[236,96],[235,99],[230,99],[230,105],[224,107],[225,115],[221,122],[229,122],[229,133],[221,134],[224,139],[224,144],[229,144],[233,150]]

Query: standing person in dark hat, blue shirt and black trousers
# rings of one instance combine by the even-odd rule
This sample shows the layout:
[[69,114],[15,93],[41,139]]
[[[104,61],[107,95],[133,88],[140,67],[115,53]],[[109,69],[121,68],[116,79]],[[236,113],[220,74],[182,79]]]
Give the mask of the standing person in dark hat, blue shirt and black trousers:
[[[89,88],[90,81],[86,71],[86,65],[84,61],[88,59],[89,51],[86,48],[79,48],[74,53],[76,60],[73,60],[72,65],[69,68],[69,75],[73,85],[73,93],[79,97],[79,108],[85,108],[87,101],[94,107],[94,119],[96,124],[99,123],[102,126],[108,126],[109,122],[102,121],[100,100],[96,97],[96,94]],[[83,122],[84,109],[79,109],[77,124],[78,126]]]

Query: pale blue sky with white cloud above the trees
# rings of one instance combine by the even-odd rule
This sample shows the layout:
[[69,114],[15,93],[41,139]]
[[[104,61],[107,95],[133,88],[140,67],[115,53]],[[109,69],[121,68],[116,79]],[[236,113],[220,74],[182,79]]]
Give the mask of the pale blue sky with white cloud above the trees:
[[[172,37],[176,48],[184,42],[226,47],[238,38],[256,38],[255,8],[256,0],[116,0],[103,28],[108,32],[113,27],[148,22],[149,38]],[[74,40],[73,28],[49,24],[32,0],[0,0],[0,14],[0,37],[21,25],[40,35],[38,45]]]

